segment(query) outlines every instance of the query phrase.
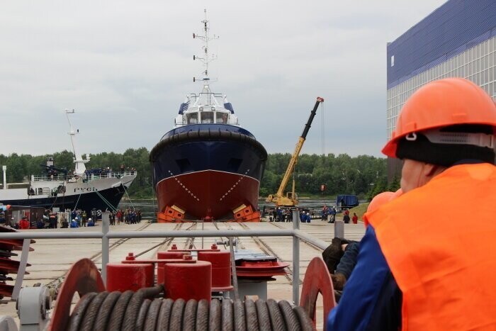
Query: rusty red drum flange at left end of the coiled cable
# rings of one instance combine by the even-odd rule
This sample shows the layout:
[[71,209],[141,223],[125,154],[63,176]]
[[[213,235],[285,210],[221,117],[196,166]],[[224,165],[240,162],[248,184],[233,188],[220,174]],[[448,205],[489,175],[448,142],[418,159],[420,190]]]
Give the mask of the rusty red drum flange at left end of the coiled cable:
[[101,279],[100,271],[90,259],[80,259],[72,264],[57,295],[48,330],[67,329],[74,293],[79,293],[79,298],[81,298],[86,293],[102,291],[105,291],[103,279]]

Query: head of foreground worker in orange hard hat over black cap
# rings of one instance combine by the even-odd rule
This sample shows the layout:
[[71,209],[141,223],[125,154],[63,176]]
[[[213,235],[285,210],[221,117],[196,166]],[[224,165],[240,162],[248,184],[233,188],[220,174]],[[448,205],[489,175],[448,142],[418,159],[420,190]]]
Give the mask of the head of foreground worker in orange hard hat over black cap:
[[404,160],[404,193],[427,184],[453,164],[495,163],[496,105],[467,79],[440,79],[415,92],[403,106],[383,148]]

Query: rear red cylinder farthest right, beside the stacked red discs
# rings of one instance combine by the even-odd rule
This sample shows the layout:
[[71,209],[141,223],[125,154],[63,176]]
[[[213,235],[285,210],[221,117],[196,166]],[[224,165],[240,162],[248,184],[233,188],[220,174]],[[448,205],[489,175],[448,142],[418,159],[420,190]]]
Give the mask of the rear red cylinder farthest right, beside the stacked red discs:
[[213,291],[232,290],[230,252],[198,252],[198,261],[208,261],[212,264]]

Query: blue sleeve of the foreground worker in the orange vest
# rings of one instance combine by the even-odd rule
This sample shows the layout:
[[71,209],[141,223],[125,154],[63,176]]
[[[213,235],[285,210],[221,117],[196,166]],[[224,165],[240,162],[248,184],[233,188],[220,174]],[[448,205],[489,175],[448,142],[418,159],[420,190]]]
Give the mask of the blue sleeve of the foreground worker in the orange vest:
[[401,298],[376,232],[369,225],[360,242],[358,262],[344,286],[339,305],[327,318],[327,330],[398,330]]

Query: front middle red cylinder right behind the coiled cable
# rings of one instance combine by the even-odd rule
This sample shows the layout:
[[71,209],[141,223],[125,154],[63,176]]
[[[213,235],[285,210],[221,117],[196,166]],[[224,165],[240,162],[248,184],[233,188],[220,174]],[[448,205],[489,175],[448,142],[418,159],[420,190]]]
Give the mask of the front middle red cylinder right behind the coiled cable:
[[165,298],[186,301],[205,299],[210,302],[212,292],[212,264],[197,261],[191,264],[164,265]]

